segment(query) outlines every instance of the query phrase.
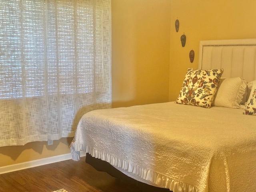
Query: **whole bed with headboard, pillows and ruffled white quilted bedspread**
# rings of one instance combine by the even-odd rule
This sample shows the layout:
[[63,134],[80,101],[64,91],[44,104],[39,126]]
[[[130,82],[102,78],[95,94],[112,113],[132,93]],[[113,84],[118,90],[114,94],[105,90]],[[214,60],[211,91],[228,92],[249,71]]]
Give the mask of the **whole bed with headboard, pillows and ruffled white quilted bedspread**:
[[255,192],[255,79],[256,39],[200,41],[175,101],[84,114],[72,158],[85,151],[153,191]]

